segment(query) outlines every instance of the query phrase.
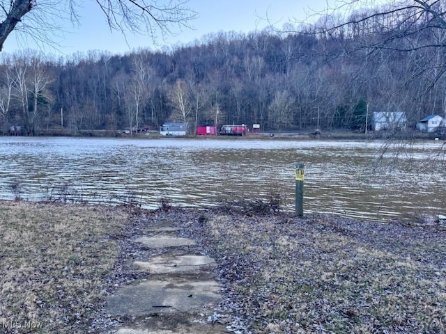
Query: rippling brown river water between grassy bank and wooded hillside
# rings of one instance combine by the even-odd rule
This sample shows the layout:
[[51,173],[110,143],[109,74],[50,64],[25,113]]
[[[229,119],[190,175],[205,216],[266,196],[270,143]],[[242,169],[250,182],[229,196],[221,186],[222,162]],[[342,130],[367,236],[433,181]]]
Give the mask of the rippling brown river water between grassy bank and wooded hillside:
[[292,211],[295,165],[304,163],[305,215],[390,221],[446,213],[441,144],[0,137],[0,199],[138,202],[154,209],[162,198],[204,207],[279,193]]

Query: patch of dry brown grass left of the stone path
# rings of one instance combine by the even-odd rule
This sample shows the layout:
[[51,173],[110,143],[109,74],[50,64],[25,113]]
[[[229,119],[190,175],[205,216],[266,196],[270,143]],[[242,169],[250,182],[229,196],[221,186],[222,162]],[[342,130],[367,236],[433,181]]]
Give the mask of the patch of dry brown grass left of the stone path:
[[86,333],[126,221],[112,207],[0,202],[0,333]]

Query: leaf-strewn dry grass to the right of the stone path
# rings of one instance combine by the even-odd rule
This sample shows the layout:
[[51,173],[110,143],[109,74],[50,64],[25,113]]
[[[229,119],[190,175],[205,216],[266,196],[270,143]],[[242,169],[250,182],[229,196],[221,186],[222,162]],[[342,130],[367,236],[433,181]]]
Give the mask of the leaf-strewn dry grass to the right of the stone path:
[[209,214],[190,235],[253,333],[446,332],[441,228]]

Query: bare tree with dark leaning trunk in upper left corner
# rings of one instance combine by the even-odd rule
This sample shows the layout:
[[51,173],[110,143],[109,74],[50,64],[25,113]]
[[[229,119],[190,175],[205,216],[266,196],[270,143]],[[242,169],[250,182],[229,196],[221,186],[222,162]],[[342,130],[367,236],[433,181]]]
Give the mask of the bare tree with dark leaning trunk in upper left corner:
[[[187,7],[188,0],[171,0],[160,3],[156,0],[95,0],[107,18],[110,29],[148,33],[156,40],[160,33],[173,34],[196,17]],[[51,43],[49,37],[56,31],[54,17],[79,22],[76,0],[0,0],[0,51],[13,31],[31,35],[38,42]],[[177,27],[174,29],[174,27]]]

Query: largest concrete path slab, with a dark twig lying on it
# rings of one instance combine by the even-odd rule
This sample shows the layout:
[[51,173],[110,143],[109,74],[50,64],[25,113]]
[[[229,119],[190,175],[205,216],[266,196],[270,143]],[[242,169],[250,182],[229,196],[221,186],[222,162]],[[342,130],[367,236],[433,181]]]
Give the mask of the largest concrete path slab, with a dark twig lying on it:
[[215,280],[176,277],[146,280],[118,289],[107,301],[107,313],[153,315],[161,312],[199,312],[222,301],[221,289]]

